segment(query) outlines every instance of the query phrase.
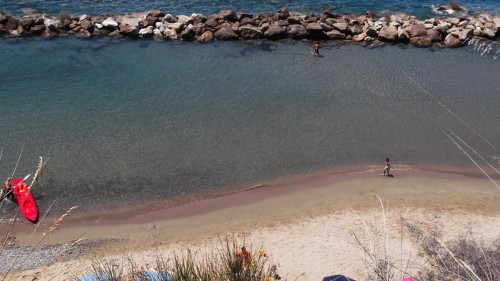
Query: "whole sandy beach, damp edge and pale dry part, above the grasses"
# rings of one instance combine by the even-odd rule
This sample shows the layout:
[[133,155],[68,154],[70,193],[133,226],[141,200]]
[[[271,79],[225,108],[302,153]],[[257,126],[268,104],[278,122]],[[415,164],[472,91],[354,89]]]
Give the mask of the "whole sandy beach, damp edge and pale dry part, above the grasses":
[[[92,259],[120,262],[125,253],[139,264],[153,264],[158,255],[211,251],[227,234],[244,240],[253,251],[265,249],[286,280],[321,280],[339,273],[363,280],[370,270],[355,235],[365,245],[375,241],[382,247],[383,214],[391,260],[412,273],[422,268],[423,261],[417,245],[401,231],[400,218],[424,229],[437,226],[444,240],[469,228],[486,240],[500,235],[500,190],[488,179],[406,169],[393,174],[392,178],[378,171],[314,176],[174,208],[157,204],[154,210],[127,210],[114,214],[114,219],[109,214],[76,213],[43,243],[81,237],[122,242],[97,247],[78,260],[20,272],[13,280],[34,274],[39,280],[68,280],[87,270]],[[41,234],[30,235],[30,228],[16,225],[13,233],[21,244],[40,240]]]

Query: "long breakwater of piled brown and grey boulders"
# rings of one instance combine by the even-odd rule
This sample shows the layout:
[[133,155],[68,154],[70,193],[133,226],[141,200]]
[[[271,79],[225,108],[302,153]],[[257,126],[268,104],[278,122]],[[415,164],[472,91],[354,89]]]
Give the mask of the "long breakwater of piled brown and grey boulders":
[[0,13],[0,35],[56,37],[109,36],[209,42],[212,40],[284,38],[352,40],[356,42],[410,43],[418,47],[444,44],[459,47],[472,37],[496,41],[500,17],[491,14],[418,20],[398,13],[377,17],[336,14],[328,10],[304,15],[279,9],[274,14],[249,14],[223,10],[218,14],[190,16],[149,11],[113,16],[33,15],[15,18]]

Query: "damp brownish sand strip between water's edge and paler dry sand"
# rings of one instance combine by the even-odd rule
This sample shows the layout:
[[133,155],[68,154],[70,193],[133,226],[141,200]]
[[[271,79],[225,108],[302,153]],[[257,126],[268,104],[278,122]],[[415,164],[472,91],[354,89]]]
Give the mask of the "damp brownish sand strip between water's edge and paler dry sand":
[[[415,169],[398,170],[393,168],[392,171],[392,174],[395,175],[394,178],[382,177],[378,170],[347,174],[321,174],[166,208],[162,207],[160,202],[140,208],[124,209],[119,212],[82,215],[75,211],[74,214],[66,218],[59,230],[51,234],[51,238],[46,242],[67,242],[71,240],[71,237],[77,239],[83,233],[86,233],[89,239],[113,237],[135,240],[130,236],[130,226],[143,232],[148,228],[148,225],[157,224],[188,224],[189,227],[186,225],[184,227],[189,232],[187,229],[193,230],[192,227],[196,225],[192,224],[193,221],[203,221],[206,217],[216,221],[216,224],[224,225],[228,222],[229,232],[239,232],[243,230],[235,224],[235,221],[240,220],[236,214],[241,210],[251,209],[250,214],[240,215],[247,217],[245,220],[248,220],[248,224],[262,227],[276,219],[293,223],[301,219],[327,215],[353,207],[363,210],[377,208],[379,207],[377,202],[372,200],[375,194],[388,200],[391,204],[395,204],[394,207],[408,204],[412,208],[418,209],[436,207],[439,205],[439,200],[447,202],[447,205],[460,204],[465,198],[470,197],[470,200],[476,198],[483,201],[484,206],[479,208],[475,203],[465,204],[460,208],[462,211],[483,214],[500,213],[500,207],[495,205],[495,200],[500,199],[500,192],[486,178],[471,177],[462,173]],[[498,177],[494,177],[494,179],[498,180]],[[414,186],[419,188],[415,189]],[[446,197],[437,198],[432,195],[433,193]],[[464,194],[467,196],[464,197]],[[415,198],[410,198],[411,195]],[[335,198],[343,202],[324,209],[318,208],[315,204],[325,205],[325,198]],[[372,202],[360,205],[356,203],[357,201]],[[307,206],[306,209],[311,211],[311,215],[290,213],[289,208],[294,205],[298,206],[299,209],[304,209]],[[232,210],[235,212],[233,213]],[[258,214],[257,217],[261,217],[262,221],[256,220],[256,216],[251,213]],[[57,217],[47,216],[38,226],[39,231],[49,228],[56,219]],[[13,229],[12,235],[18,237],[23,244],[34,243],[36,238],[31,234],[34,226],[23,222],[22,218],[20,221]],[[220,230],[219,228],[210,229],[209,232],[217,229]],[[2,233],[2,235],[4,234]]]

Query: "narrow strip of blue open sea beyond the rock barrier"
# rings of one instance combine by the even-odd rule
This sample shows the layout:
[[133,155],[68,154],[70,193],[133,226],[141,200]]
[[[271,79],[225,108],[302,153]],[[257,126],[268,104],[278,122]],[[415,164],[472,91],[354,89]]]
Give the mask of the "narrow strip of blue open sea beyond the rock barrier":
[[[274,13],[281,7],[288,7],[291,11],[302,13],[321,13],[330,9],[337,13],[365,13],[372,11],[380,15],[393,12],[406,12],[419,18],[435,16],[432,6],[444,5],[449,1],[437,0],[191,0],[191,1],[161,1],[161,0],[0,0],[2,10],[13,14],[23,15],[27,12],[48,13],[57,15],[61,12],[79,15],[104,13],[124,14],[159,9],[172,14],[202,13],[209,15],[218,13],[221,9],[234,9],[251,13]],[[500,5],[497,0],[463,0],[460,4],[469,9],[470,14],[490,12],[500,14]]]

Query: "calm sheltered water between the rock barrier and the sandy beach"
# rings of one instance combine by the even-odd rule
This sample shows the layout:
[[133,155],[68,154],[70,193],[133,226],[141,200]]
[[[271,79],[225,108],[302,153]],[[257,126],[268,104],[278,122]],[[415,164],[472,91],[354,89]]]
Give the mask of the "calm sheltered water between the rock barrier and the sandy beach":
[[0,48],[0,177],[21,150],[17,176],[46,157],[41,209],[210,196],[386,157],[479,173],[441,129],[500,156],[429,96],[500,146],[499,60],[468,48],[332,44],[315,57],[295,41],[73,38]]

